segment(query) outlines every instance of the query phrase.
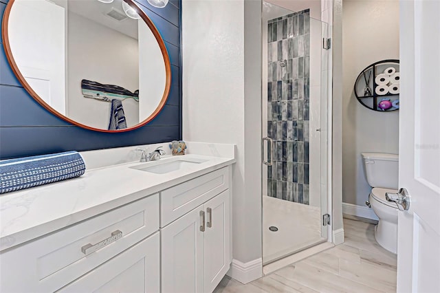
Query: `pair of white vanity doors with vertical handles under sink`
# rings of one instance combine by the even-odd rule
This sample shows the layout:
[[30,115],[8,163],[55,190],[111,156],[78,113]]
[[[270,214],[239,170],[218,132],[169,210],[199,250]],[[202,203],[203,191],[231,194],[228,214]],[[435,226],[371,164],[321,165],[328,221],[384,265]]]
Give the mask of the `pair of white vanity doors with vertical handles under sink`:
[[162,292],[212,292],[229,270],[229,190],[161,231]]

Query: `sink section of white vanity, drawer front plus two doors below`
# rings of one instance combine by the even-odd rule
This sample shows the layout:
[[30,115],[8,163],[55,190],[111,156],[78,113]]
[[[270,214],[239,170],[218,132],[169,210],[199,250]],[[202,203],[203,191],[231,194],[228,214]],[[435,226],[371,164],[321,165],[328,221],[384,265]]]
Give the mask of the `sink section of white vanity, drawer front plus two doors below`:
[[[228,175],[228,168],[220,169],[161,193],[161,226],[175,219],[161,228],[162,292],[212,292],[228,272],[232,230]],[[164,202],[175,206],[167,210]],[[182,217],[176,212],[193,206]]]

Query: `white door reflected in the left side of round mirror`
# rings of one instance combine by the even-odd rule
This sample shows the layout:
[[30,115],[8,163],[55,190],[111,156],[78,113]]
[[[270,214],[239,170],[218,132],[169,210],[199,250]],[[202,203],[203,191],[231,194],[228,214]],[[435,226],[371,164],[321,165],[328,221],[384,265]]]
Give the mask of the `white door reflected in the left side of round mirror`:
[[17,67],[36,94],[65,113],[65,10],[46,0],[15,0],[8,38]]

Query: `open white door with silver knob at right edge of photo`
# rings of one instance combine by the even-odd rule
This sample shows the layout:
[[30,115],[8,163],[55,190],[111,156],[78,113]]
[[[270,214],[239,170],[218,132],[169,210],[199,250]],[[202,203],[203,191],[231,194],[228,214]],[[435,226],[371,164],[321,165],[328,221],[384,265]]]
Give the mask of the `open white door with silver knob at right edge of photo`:
[[440,292],[440,1],[400,1],[397,292]]

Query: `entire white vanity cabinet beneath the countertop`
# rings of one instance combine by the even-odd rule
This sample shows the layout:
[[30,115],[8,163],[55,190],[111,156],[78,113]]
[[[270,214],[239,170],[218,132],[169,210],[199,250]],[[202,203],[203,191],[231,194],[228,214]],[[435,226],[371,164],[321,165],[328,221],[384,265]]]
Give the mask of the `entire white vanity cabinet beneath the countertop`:
[[0,251],[0,292],[212,292],[230,268],[230,170],[65,215],[64,228]]

